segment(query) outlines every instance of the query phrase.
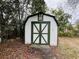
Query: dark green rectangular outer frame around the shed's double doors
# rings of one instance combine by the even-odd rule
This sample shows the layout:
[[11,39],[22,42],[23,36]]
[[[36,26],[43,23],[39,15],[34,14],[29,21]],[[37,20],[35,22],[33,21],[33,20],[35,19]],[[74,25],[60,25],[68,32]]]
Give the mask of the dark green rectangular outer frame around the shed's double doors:
[[[47,43],[41,43],[41,38],[39,39],[39,43],[35,43],[35,42],[33,42],[33,24],[47,24],[48,25],[48,33],[46,33],[47,34],[47,36],[48,36],[48,39],[47,39]],[[40,27],[41,27],[41,25],[40,25]],[[41,28],[40,28],[41,29]],[[43,34],[43,33],[41,33],[41,34]],[[41,37],[41,36],[40,36]],[[42,21],[42,22],[39,22],[39,21],[32,21],[31,22],[31,43],[32,44],[40,44],[40,45],[50,45],[50,21]]]

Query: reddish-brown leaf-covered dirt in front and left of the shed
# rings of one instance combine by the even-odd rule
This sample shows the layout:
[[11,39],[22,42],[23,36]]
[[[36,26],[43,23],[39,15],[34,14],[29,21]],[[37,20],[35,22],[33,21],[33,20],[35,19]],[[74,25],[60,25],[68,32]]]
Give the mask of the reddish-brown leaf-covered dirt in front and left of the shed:
[[[52,50],[53,49],[53,50]],[[55,48],[49,46],[25,45],[21,41],[0,44],[0,59],[55,59]]]

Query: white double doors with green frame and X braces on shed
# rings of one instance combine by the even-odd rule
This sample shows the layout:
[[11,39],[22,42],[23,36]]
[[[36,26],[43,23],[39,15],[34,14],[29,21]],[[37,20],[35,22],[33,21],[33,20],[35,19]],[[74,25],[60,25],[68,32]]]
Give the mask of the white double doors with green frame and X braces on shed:
[[31,23],[31,43],[49,44],[50,43],[50,22]]

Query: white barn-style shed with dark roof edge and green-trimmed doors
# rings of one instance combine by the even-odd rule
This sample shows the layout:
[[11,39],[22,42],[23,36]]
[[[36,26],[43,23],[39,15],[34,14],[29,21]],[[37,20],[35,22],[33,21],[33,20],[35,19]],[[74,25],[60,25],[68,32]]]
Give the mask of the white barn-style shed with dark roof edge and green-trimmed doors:
[[54,16],[37,13],[27,17],[24,23],[25,44],[57,46],[58,23]]

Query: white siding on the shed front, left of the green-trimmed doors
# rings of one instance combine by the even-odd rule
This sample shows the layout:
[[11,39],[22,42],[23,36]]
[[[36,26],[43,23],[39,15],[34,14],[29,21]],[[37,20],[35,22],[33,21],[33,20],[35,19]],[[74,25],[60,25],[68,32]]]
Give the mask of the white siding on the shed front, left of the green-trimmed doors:
[[31,21],[37,21],[37,16],[28,19],[25,24],[25,44],[31,44]]

